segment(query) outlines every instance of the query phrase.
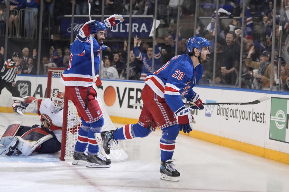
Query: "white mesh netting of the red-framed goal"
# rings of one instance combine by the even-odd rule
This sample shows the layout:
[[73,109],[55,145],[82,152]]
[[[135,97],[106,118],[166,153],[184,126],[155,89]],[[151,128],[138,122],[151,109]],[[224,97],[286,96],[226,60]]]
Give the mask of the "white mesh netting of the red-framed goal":
[[[50,95],[54,95],[55,93],[62,91],[64,92],[65,86],[60,82],[61,74],[63,70],[61,69],[55,69],[50,70],[51,73],[48,73],[48,76],[51,75],[51,89],[47,89],[47,93],[50,92]],[[49,78],[48,78],[49,79]],[[104,118],[104,126],[102,127],[102,131],[109,131],[116,129],[107,114],[105,108],[103,107],[103,103],[101,99],[97,96],[98,104],[100,105],[100,108],[103,113]],[[77,134],[78,130],[81,126],[81,120],[78,116],[76,107],[73,105],[73,103],[68,100],[68,104],[64,104],[64,107],[68,106],[68,115],[67,115],[67,128],[62,128],[62,130],[66,130],[66,140],[62,140],[62,143],[65,142],[65,157],[66,160],[71,160],[74,153],[74,146],[77,140]],[[100,145],[99,147],[102,147],[102,142],[99,141]],[[106,154],[105,154],[106,155]],[[107,158],[111,159],[113,162],[120,162],[120,161],[126,161],[128,159],[128,156],[126,152],[123,150],[123,145],[120,142],[119,145],[113,144],[110,148],[110,155],[106,155]]]

